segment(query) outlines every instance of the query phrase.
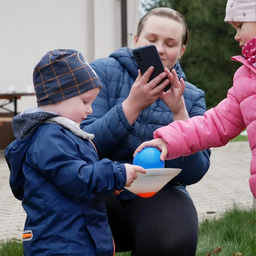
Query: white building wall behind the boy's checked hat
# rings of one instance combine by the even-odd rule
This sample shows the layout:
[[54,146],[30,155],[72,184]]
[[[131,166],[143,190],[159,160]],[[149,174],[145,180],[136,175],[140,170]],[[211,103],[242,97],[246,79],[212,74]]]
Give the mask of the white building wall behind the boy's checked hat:
[[[129,33],[136,31],[139,0],[127,2],[128,46],[132,47],[133,35]],[[0,91],[8,92],[9,86],[14,86],[15,91],[24,92],[33,86],[34,66],[49,50],[76,49],[91,62],[119,47],[120,0],[1,1]],[[35,96],[22,97],[18,111],[36,105]],[[12,109],[12,105],[8,107]]]

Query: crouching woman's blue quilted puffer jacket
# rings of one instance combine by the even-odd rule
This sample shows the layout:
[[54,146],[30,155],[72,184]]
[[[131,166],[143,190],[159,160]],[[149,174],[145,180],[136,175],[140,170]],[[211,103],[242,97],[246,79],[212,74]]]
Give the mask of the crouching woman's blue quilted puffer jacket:
[[[172,112],[162,100],[144,109],[131,126],[124,115],[122,102],[138,76],[132,50],[121,48],[109,58],[95,60],[90,64],[96,71],[103,88],[92,104],[93,113],[81,123],[81,128],[95,134],[93,140],[99,159],[109,158],[118,162],[133,161],[135,149],[144,141],[153,139],[153,132],[173,122]],[[186,79],[179,63],[174,66],[179,78]],[[204,92],[186,82],[184,92],[186,108],[190,117],[202,116],[206,111]],[[181,168],[180,174],[166,187],[178,189],[188,195],[186,185],[198,182],[210,165],[210,150],[191,156],[166,161],[166,167]],[[137,196],[125,190],[124,200]]]

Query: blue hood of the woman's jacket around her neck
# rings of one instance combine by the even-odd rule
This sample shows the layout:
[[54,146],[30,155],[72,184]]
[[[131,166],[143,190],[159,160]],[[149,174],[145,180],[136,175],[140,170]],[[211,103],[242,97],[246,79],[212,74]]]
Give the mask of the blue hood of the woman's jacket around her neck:
[[[120,48],[116,52],[111,53],[109,57],[117,59],[119,63],[129,71],[134,80],[137,78],[139,67],[133,58],[132,49],[127,47]],[[173,68],[176,70],[179,79],[183,78],[186,80],[185,73],[183,72],[179,61],[177,61]]]

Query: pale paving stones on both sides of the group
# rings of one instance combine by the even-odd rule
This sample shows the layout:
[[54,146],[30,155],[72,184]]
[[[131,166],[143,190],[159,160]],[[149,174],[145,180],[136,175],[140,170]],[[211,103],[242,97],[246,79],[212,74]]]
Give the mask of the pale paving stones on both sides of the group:
[[[188,186],[199,220],[223,213],[236,203],[252,207],[249,188],[251,150],[248,142],[230,142],[213,148],[207,174],[197,184]],[[207,212],[214,212],[208,214]],[[0,152],[0,239],[21,238],[26,213],[9,187],[9,169]]]

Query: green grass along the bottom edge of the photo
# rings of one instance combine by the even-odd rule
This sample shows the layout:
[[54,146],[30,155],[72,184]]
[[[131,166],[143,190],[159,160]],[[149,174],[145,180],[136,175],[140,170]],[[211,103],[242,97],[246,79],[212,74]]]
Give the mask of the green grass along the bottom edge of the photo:
[[[197,256],[255,256],[256,211],[230,209],[218,219],[204,220],[199,225]],[[209,254],[219,247],[218,254]],[[240,254],[237,254],[239,256]],[[0,242],[0,256],[23,256],[22,243],[18,240]],[[115,256],[130,256],[130,252]]]

